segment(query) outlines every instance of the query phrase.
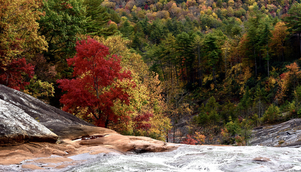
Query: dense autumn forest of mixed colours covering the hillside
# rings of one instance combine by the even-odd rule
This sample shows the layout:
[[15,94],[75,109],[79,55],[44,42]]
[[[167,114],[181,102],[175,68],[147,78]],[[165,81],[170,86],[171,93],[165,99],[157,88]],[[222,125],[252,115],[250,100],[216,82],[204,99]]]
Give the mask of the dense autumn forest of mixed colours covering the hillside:
[[0,84],[96,126],[248,145],[254,127],[301,117],[299,0],[2,0],[0,9]]

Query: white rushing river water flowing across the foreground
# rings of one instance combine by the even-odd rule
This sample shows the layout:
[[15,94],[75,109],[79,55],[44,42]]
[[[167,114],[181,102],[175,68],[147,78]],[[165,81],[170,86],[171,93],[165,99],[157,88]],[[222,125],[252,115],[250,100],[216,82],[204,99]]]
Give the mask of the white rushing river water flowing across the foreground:
[[[256,161],[262,157],[266,161]],[[268,159],[269,158],[269,159]],[[172,152],[113,155],[72,172],[300,171],[301,148],[265,146],[180,146]]]

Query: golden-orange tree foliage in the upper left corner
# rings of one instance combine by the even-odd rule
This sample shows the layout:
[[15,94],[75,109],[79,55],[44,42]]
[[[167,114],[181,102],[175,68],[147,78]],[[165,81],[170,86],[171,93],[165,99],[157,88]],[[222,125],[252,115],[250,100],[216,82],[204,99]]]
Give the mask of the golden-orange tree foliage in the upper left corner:
[[[38,34],[42,1],[2,0],[0,5],[0,63],[10,63],[13,57],[25,54],[31,57],[36,51],[47,51],[45,38]],[[2,61],[3,60],[3,61]]]

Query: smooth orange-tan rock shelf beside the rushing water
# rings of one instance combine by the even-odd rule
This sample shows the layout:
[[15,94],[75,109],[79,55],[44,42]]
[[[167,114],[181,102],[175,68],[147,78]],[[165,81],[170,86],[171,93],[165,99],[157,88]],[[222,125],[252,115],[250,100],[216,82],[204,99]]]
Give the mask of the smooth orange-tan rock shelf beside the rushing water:
[[0,147],[0,165],[15,164],[17,166],[17,164],[22,164],[18,169],[25,167],[33,169],[35,166],[40,167],[40,169],[62,169],[85,161],[76,161],[68,158],[74,155],[88,153],[93,156],[110,152],[117,154],[163,152],[178,148],[178,146],[173,144],[148,137],[123,136],[110,129],[91,126],[82,126],[80,131],[85,133],[84,135],[106,136],[92,140],[72,141],[72,139],[81,135],[77,131],[79,130],[71,130],[69,135],[62,136],[62,143],[60,144],[28,142],[16,146]]

